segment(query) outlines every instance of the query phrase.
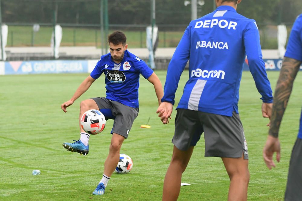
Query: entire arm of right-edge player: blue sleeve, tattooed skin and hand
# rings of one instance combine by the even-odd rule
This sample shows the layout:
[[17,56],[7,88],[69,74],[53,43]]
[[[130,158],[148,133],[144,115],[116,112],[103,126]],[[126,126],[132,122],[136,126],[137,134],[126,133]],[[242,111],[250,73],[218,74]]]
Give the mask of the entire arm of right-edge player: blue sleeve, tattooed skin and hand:
[[286,53],[282,62],[282,67],[275,89],[274,104],[271,115],[271,125],[268,131],[268,138],[263,149],[263,159],[266,166],[271,169],[275,167],[273,154],[276,152],[276,159],[279,162],[280,142],[278,139],[279,128],[284,111],[287,107],[291,91],[293,89],[294,79],[302,63],[302,15],[294,23],[291,35],[288,40]]

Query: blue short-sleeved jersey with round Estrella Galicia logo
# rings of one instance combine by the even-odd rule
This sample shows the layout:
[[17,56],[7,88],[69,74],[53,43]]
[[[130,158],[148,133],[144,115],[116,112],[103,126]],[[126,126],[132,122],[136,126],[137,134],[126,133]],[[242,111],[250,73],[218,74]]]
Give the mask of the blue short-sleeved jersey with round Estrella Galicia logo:
[[138,108],[140,74],[148,79],[153,70],[143,60],[126,50],[124,58],[119,64],[112,61],[110,53],[101,56],[90,76],[98,79],[102,73],[106,75],[107,99]]

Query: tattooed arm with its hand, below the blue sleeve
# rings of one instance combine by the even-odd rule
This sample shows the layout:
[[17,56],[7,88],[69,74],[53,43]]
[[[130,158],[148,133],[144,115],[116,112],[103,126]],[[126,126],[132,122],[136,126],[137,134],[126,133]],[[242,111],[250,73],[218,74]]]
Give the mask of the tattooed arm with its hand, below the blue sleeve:
[[271,115],[271,125],[268,131],[268,138],[263,149],[263,158],[266,166],[276,167],[273,162],[273,154],[277,153],[276,159],[280,161],[280,142],[278,139],[279,128],[289,96],[293,89],[294,79],[299,71],[301,61],[284,57],[280,76],[275,89],[273,111]]

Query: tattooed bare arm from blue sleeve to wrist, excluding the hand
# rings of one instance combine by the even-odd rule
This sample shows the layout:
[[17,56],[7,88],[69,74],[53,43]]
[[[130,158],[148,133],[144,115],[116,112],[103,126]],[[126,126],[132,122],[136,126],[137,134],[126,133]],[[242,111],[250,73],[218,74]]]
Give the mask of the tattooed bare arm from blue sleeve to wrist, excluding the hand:
[[283,59],[280,76],[277,82],[274,96],[273,111],[271,114],[271,126],[268,134],[278,137],[280,123],[293,89],[294,79],[299,71],[301,61],[285,57]]

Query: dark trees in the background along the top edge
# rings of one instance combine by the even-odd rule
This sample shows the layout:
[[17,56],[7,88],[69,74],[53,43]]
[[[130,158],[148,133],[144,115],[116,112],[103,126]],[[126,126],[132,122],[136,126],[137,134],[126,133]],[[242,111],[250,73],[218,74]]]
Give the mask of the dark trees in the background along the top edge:
[[[52,23],[57,5],[57,23],[99,24],[100,0],[2,0],[3,23]],[[198,17],[213,11],[213,0],[198,5]],[[243,0],[237,9],[258,24],[292,24],[302,12],[302,1]],[[151,23],[150,0],[108,0],[109,24]],[[156,0],[156,24],[188,24],[191,5],[184,0]]]

